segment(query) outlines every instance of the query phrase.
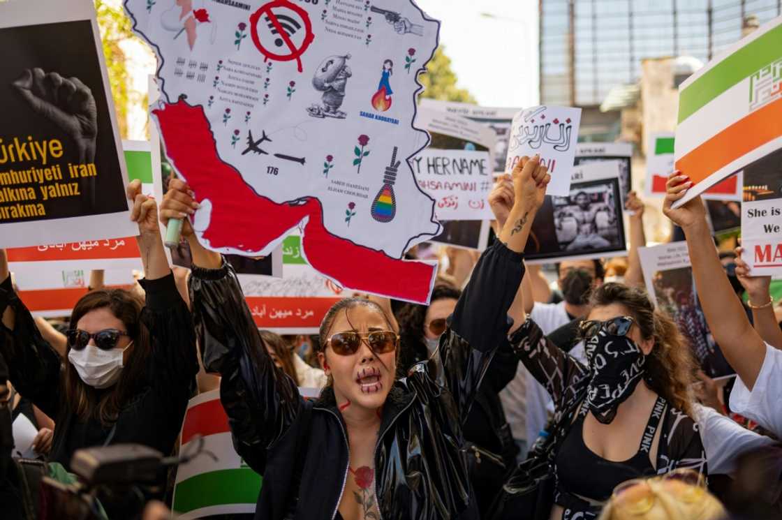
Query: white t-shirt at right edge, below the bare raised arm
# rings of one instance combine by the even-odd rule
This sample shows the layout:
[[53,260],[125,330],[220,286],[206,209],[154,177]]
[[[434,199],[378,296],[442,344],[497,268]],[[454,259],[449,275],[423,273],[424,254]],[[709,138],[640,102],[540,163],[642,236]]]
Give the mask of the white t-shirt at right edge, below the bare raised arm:
[[782,439],[782,350],[766,343],[766,357],[752,392],[737,378],[730,409]]

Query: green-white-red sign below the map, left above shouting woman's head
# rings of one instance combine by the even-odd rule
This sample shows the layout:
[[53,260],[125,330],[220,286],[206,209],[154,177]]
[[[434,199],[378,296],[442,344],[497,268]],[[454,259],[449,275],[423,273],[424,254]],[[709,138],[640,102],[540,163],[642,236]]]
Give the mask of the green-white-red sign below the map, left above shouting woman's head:
[[299,235],[286,237],[278,250],[282,278],[239,275],[255,324],[278,334],[317,334],[326,311],[352,292],[307,264]]

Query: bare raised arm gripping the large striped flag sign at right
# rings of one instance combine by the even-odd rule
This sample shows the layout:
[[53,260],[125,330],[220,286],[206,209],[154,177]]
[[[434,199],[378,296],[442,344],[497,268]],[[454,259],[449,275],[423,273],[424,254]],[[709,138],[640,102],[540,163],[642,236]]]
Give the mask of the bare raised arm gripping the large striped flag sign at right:
[[766,357],[766,345],[752,328],[744,307],[741,307],[741,302],[728,282],[706,223],[701,197],[695,197],[675,210],[672,207],[691,186],[692,182],[687,176],[674,172],[668,180],[668,194],[665,195],[662,210],[674,224],[682,228],[687,238],[698,299],[708,328],[730,366],[751,390]]

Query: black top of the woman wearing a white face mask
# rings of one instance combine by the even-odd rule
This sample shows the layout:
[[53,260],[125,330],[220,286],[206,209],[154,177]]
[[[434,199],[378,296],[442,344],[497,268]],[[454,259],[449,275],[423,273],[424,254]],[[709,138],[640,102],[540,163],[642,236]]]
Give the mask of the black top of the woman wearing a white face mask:
[[108,426],[95,418],[82,421],[63,400],[63,360],[41,337],[30,311],[13,292],[10,277],[0,285],[0,312],[8,306],[16,311],[13,330],[3,326],[0,332],[0,352],[9,365],[9,379],[19,393],[55,419],[50,460],[66,469],[74,451],[89,446],[139,443],[163,454],[174,449],[188,399],[195,391],[199,368],[195,331],[173,274],[141,282],[146,306],[140,321],[152,342],[149,368],[117,421]]

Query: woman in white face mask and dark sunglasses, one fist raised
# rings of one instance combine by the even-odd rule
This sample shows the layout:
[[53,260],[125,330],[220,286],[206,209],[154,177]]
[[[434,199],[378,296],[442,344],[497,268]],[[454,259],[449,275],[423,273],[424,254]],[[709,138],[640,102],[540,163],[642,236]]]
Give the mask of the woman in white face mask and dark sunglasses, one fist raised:
[[5,252],[0,259],[0,352],[13,385],[56,419],[50,461],[65,468],[75,450],[89,446],[140,443],[170,454],[195,388],[192,317],[174,285],[156,203],[142,195],[140,181],[127,195],[140,233],[146,303],[124,289],[83,296],[70,317],[66,360],[13,292]]

